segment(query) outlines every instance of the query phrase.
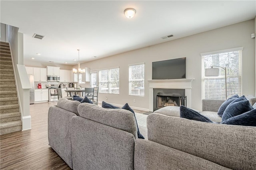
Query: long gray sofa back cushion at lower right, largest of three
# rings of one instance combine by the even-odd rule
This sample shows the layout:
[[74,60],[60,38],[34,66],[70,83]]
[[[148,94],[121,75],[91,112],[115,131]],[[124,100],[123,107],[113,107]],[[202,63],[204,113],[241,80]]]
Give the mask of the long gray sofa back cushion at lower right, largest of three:
[[192,121],[160,114],[147,118],[148,140],[230,169],[256,167],[256,127]]

